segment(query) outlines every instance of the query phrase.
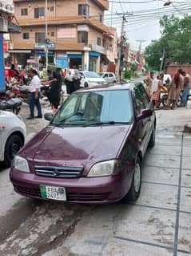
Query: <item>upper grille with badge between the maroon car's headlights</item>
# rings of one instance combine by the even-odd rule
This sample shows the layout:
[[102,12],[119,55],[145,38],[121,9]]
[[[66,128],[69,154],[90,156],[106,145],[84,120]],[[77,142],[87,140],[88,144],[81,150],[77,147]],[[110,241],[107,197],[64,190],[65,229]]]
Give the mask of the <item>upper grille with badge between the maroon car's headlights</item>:
[[35,173],[44,177],[78,178],[82,177],[82,172],[83,169],[77,167],[35,166]]

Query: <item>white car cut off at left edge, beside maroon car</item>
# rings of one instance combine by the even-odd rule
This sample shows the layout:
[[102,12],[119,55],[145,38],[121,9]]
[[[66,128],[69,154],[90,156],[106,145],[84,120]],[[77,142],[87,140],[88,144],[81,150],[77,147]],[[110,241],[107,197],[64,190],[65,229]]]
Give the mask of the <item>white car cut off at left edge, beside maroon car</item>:
[[21,116],[0,110],[0,162],[10,166],[14,155],[25,144],[26,124]]

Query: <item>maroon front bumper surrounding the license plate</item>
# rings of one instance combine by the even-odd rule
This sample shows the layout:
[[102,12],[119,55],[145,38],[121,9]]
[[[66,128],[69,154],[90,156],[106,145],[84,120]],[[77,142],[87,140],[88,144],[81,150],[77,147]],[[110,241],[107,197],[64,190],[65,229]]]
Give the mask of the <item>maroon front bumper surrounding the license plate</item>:
[[[11,169],[10,181],[17,193],[43,200],[40,185],[58,186],[66,189],[66,201],[77,203],[112,203],[125,196],[126,186],[121,176],[54,178],[40,177],[34,173],[22,173]],[[50,200],[52,201],[52,200]]]

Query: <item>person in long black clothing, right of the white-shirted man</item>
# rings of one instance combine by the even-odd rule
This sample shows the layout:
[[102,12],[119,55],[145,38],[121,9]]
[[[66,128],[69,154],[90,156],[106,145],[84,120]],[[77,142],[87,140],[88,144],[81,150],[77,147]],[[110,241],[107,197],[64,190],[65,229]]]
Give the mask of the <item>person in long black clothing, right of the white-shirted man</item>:
[[46,91],[46,95],[50,100],[50,105],[53,111],[53,115],[58,112],[58,107],[61,100],[61,87],[62,87],[62,76],[60,71],[57,69],[53,72],[53,78],[49,81],[49,91]]

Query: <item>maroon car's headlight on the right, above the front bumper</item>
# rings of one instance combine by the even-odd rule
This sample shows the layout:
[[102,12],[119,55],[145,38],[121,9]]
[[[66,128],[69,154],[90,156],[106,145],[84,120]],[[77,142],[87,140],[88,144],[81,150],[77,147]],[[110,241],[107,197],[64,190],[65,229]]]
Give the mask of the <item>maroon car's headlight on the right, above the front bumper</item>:
[[109,176],[113,174],[113,168],[115,165],[115,160],[109,160],[97,163],[92,166],[90,172],[88,173],[88,177],[102,177]]

